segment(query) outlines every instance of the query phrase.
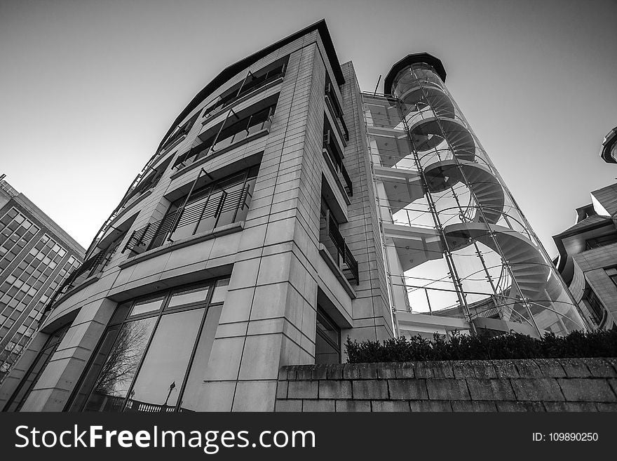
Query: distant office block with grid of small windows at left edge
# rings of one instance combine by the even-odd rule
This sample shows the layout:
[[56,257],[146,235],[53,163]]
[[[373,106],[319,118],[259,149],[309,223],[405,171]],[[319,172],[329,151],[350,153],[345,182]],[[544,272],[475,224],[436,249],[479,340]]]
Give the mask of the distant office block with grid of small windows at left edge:
[[0,382],[28,347],[43,309],[86,252],[0,178]]

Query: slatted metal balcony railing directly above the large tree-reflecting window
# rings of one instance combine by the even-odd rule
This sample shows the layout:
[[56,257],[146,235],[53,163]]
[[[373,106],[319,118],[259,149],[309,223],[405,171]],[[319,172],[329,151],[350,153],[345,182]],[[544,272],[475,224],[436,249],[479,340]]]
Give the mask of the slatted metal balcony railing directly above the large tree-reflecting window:
[[[219,225],[219,218],[223,213],[233,213],[231,222],[237,222],[244,218],[245,211],[248,211],[251,194],[250,186],[244,189],[236,189],[233,192],[212,192],[210,198],[205,203],[189,204],[184,208],[179,208],[172,213],[165,215],[159,221],[150,222],[141,229],[137,229],[130,235],[122,253],[129,250],[133,254],[140,254],[144,251],[163,246],[164,243],[172,241],[173,234],[180,228],[184,228],[183,235],[189,236],[197,232],[210,232]],[[211,219],[208,229],[199,227],[201,222]],[[192,229],[189,228],[192,226]]]

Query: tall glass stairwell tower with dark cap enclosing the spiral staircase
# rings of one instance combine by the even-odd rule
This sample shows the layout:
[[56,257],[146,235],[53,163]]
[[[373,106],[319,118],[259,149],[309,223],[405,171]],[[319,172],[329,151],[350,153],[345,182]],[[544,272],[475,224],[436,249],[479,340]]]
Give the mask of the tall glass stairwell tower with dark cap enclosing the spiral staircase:
[[363,94],[398,333],[587,329],[445,76],[408,55]]

